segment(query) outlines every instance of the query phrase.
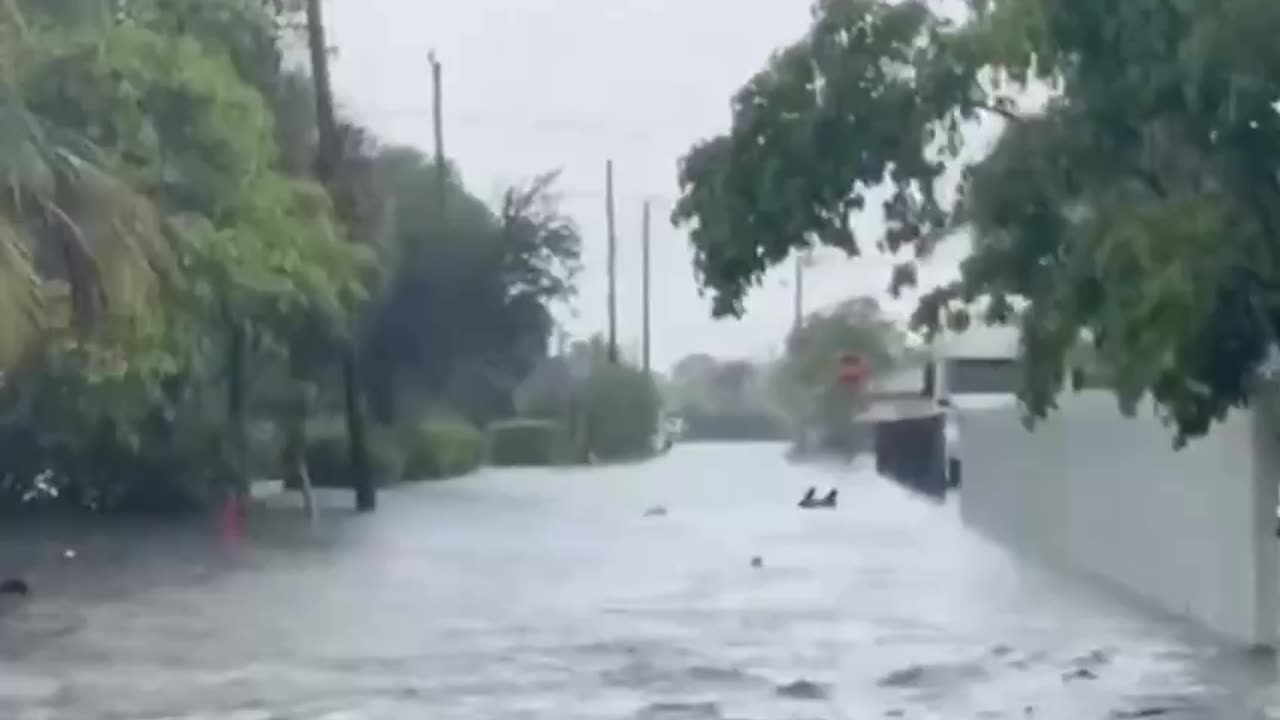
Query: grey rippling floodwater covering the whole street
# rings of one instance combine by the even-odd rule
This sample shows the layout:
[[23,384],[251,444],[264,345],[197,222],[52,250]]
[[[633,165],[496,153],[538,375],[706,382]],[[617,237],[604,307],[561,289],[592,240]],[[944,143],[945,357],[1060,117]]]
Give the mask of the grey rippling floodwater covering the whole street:
[[[840,507],[797,510],[809,486]],[[205,527],[0,529],[0,575],[33,585],[0,607],[0,717],[1253,719],[1276,702],[1270,661],[781,446],[381,500],[315,529],[257,509],[234,548]]]

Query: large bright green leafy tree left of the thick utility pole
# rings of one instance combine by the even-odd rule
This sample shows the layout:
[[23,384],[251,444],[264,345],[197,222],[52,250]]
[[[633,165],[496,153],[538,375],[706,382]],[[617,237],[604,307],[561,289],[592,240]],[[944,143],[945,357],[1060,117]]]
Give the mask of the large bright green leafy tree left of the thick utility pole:
[[[15,196],[44,304],[5,388],[9,429],[91,506],[243,483],[248,356],[300,328],[349,334],[370,260],[323,190],[282,172],[270,106],[233,54],[163,33],[143,6],[13,23],[22,142],[58,165],[27,163],[51,190]],[[115,237],[133,261],[100,260],[123,255],[96,252]]]

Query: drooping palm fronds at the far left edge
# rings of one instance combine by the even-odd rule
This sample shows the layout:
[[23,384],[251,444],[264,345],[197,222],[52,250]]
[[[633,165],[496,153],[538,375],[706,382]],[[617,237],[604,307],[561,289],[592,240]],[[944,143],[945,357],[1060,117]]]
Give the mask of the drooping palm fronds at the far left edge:
[[91,142],[31,111],[22,73],[47,53],[0,0],[0,369],[45,331],[138,311],[168,258],[155,209]]

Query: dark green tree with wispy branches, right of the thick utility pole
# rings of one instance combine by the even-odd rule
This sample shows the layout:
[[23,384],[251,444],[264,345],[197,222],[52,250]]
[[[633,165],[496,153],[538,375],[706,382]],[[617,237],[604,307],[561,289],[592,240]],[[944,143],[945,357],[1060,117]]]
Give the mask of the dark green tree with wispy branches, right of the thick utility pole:
[[398,268],[364,340],[376,414],[393,420],[394,398],[411,389],[479,424],[509,415],[548,354],[552,309],[572,296],[580,264],[556,176],[509,188],[495,209],[451,179],[443,223],[438,205],[421,201],[439,192],[428,158],[385,149],[374,174],[390,206],[384,254]]

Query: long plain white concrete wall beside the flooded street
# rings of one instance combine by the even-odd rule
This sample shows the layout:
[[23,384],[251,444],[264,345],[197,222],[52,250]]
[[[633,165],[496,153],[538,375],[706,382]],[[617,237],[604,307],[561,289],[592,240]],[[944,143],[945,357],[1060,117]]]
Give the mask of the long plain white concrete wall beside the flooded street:
[[1151,414],[1068,392],[1027,432],[1020,410],[959,411],[965,521],[1243,644],[1276,639],[1276,427],[1233,413],[1174,451]]

